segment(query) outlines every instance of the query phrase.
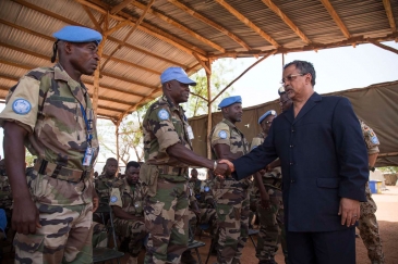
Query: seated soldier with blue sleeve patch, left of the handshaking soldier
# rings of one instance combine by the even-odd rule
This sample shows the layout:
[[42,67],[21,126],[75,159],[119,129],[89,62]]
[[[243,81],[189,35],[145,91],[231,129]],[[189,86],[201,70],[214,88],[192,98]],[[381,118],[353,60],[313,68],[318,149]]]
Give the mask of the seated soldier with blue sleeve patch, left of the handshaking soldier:
[[136,264],[146,236],[143,210],[145,191],[138,183],[137,162],[129,162],[124,174],[125,178],[119,179],[117,184],[119,188],[112,188],[109,204],[114,214],[116,232],[123,240],[130,240],[128,264]]

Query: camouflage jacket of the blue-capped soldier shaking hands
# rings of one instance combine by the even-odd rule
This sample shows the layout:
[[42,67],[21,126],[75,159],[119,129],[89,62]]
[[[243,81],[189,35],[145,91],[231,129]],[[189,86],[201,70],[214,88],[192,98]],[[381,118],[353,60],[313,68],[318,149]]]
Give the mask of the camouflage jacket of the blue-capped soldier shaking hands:
[[176,143],[192,150],[188,128],[183,109],[176,106],[166,96],[149,106],[143,121],[145,162],[153,165],[186,168],[185,176],[162,175],[170,181],[188,179],[188,164],[169,156],[166,152],[167,148]]

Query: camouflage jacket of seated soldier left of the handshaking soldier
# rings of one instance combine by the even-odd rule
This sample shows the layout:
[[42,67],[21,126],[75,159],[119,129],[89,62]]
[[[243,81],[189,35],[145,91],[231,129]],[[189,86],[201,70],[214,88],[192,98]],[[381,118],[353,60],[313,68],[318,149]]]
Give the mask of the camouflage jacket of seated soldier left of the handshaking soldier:
[[128,180],[119,179],[112,188],[109,205],[114,205],[123,209],[124,212],[134,216],[144,217],[144,189],[141,184],[130,186]]

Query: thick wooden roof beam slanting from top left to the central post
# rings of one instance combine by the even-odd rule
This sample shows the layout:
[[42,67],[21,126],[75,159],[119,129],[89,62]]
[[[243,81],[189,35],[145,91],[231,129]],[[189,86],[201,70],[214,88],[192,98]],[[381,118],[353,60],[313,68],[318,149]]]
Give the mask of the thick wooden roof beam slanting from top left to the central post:
[[[16,0],[16,1],[23,1],[23,0]],[[86,0],[74,0],[75,2],[79,2],[81,4],[84,4],[91,9],[94,9],[96,10],[97,12],[101,13],[101,14],[109,14],[108,13],[108,10],[111,8],[110,5],[101,2],[101,1],[98,1],[98,0],[92,0],[92,1],[86,1]],[[95,3],[93,3],[95,2]],[[119,22],[123,22],[125,20],[130,20],[129,21],[129,24],[131,26],[134,26],[135,22],[137,21],[136,17],[133,17],[131,16],[130,14],[126,14],[122,11],[119,12],[118,15],[112,15],[112,14],[109,14],[109,17],[116,20],[116,21],[119,21]],[[176,48],[186,52],[188,54],[192,54],[192,52],[197,52],[201,54],[201,58],[203,60],[207,60],[206,58],[206,51],[184,41],[184,40],[181,40],[168,33],[165,32],[165,29],[161,29],[161,28],[158,28],[158,27],[155,27],[148,23],[142,23],[142,25],[138,26],[140,30],[143,30],[165,42],[168,42],[172,46],[174,46]]]

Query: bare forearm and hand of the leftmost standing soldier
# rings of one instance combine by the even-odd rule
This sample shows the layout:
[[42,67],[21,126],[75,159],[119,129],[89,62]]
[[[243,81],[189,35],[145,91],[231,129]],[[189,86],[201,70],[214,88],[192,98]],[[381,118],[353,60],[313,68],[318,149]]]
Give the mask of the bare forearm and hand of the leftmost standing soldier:
[[5,168],[13,190],[14,200],[11,227],[19,234],[36,234],[40,228],[39,212],[32,200],[25,176],[25,147],[24,139],[27,130],[16,123],[4,124],[4,154]]

